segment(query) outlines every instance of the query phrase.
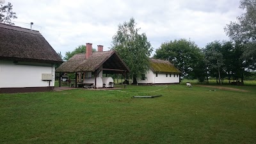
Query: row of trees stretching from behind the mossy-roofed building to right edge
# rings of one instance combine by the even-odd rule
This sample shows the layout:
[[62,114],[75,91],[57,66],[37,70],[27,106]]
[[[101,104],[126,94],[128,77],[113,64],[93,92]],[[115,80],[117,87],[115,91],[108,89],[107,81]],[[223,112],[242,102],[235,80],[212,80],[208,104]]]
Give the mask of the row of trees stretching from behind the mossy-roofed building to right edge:
[[243,84],[244,76],[255,76],[256,1],[242,0],[240,3],[239,8],[245,13],[237,17],[237,22],[230,22],[224,28],[230,41],[216,40],[199,49],[190,40],[174,40],[163,43],[154,57],[171,61],[181,70],[181,77],[200,82],[215,77],[218,84],[225,78],[229,83],[241,79]]

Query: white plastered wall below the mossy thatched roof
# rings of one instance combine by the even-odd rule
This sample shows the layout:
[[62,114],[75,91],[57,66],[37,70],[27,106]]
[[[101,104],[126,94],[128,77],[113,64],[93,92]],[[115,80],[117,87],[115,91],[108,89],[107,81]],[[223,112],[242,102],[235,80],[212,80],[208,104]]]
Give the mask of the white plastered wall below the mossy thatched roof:
[[170,74],[167,75],[168,73],[158,73],[156,77],[156,73],[154,73],[152,70],[149,70],[147,74],[145,74],[146,79],[141,80],[141,78],[138,79],[138,83],[152,83],[152,84],[157,84],[157,83],[179,83],[179,75],[175,74]]

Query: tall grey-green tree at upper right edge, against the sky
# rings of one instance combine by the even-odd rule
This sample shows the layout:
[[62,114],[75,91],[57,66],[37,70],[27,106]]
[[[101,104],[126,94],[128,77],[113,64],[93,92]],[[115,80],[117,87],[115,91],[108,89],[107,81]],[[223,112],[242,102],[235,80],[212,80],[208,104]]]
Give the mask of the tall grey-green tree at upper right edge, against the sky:
[[241,0],[239,8],[245,13],[237,17],[237,22],[230,22],[224,28],[227,35],[236,43],[244,45],[243,58],[250,62],[249,69],[256,68],[256,1]]

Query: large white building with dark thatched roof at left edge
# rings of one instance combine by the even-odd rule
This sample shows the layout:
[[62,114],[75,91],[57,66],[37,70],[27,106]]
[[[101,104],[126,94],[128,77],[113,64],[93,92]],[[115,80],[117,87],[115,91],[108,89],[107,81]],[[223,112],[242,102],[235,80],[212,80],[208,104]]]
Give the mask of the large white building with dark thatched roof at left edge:
[[39,31],[0,24],[0,93],[53,90],[57,63]]

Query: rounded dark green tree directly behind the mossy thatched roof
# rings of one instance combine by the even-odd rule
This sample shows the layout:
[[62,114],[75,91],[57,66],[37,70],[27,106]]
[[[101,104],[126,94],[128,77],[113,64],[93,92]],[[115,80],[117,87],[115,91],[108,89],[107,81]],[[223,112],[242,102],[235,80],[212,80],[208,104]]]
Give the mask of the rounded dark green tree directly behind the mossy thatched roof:
[[180,39],[161,44],[154,58],[170,61],[182,72],[180,77],[186,77],[199,65],[203,56],[195,42]]

